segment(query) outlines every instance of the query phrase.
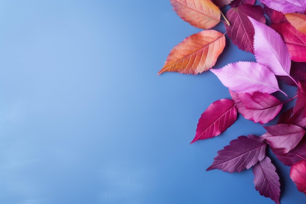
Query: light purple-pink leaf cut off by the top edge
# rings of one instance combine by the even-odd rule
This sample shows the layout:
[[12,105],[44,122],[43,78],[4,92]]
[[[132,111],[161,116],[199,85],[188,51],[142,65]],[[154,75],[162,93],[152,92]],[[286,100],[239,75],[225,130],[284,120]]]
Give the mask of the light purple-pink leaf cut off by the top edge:
[[304,13],[306,10],[305,0],[260,0],[263,4],[282,13]]

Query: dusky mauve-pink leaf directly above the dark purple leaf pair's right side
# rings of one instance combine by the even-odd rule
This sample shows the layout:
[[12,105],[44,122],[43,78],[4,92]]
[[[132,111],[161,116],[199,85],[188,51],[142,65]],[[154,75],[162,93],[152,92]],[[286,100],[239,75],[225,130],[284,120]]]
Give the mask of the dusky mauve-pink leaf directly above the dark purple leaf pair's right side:
[[277,124],[264,127],[267,133],[261,137],[274,149],[284,149],[288,153],[298,145],[306,131],[292,124]]

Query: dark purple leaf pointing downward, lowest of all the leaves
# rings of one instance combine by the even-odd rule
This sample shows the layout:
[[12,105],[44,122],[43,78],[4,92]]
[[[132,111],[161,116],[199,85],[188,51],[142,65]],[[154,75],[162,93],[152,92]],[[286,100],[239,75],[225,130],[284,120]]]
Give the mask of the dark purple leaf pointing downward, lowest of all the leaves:
[[265,157],[253,167],[255,189],[264,196],[270,198],[276,204],[280,204],[281,183],[271,159]]

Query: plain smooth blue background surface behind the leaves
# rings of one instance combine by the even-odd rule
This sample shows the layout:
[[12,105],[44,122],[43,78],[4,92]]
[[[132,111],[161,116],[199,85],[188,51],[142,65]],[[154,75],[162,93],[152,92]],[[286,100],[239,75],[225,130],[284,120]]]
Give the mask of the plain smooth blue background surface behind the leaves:
[[[1,204],[274,203],[251,169],[205,171],[261,125],[239,116],[189,145],[201,113],[229,93],[211,72],[157,76],[200,31],[169,0],[1,0],[0,27]],[[216,68],[254,60],[226,46]],[[282,204],[305,204],[289,167],[275,164]]]

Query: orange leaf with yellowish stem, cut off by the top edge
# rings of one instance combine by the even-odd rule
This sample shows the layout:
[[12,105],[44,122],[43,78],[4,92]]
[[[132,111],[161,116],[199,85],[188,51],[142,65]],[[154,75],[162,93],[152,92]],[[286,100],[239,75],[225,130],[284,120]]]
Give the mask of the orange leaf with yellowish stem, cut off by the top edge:
[[221,11],[211,0],[170,0],[177,15],[198,28],[209,29],[220,22]]

